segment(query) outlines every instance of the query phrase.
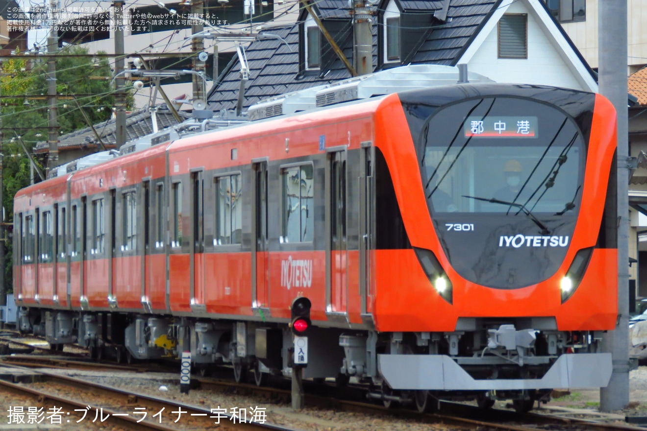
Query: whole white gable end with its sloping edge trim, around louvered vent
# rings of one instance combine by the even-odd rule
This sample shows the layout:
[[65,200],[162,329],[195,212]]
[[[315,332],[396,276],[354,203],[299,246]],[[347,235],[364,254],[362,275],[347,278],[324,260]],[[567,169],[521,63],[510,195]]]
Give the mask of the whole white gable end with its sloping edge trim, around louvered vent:
[[[537,1],[537,0],[530,0]],[[576,90],[597,90],[595,81],[587,78],[586,68],[574,63],[580,63],[571,52],[564,52],[565,40],[562,46],[556,37],[563,39],[561,34],[551,34],[549,26],[538,20],[537,12],[529,8],[525,1],[514,1],[507,8],[504,1],[479,34],[471,49],[459,63],[467,63],[468,69],[483,74],[497,82],[554,85]],[[543,12],[543,11],[541,11]],[[527,14],[528,16],[528,58],[508,59],[498,58],[498,20],[503,13]],[[567,48],[570,50],[570,48]],[[573,58],[575,56],[575,59]],[[584,74],[584,77],[582,76]]]

